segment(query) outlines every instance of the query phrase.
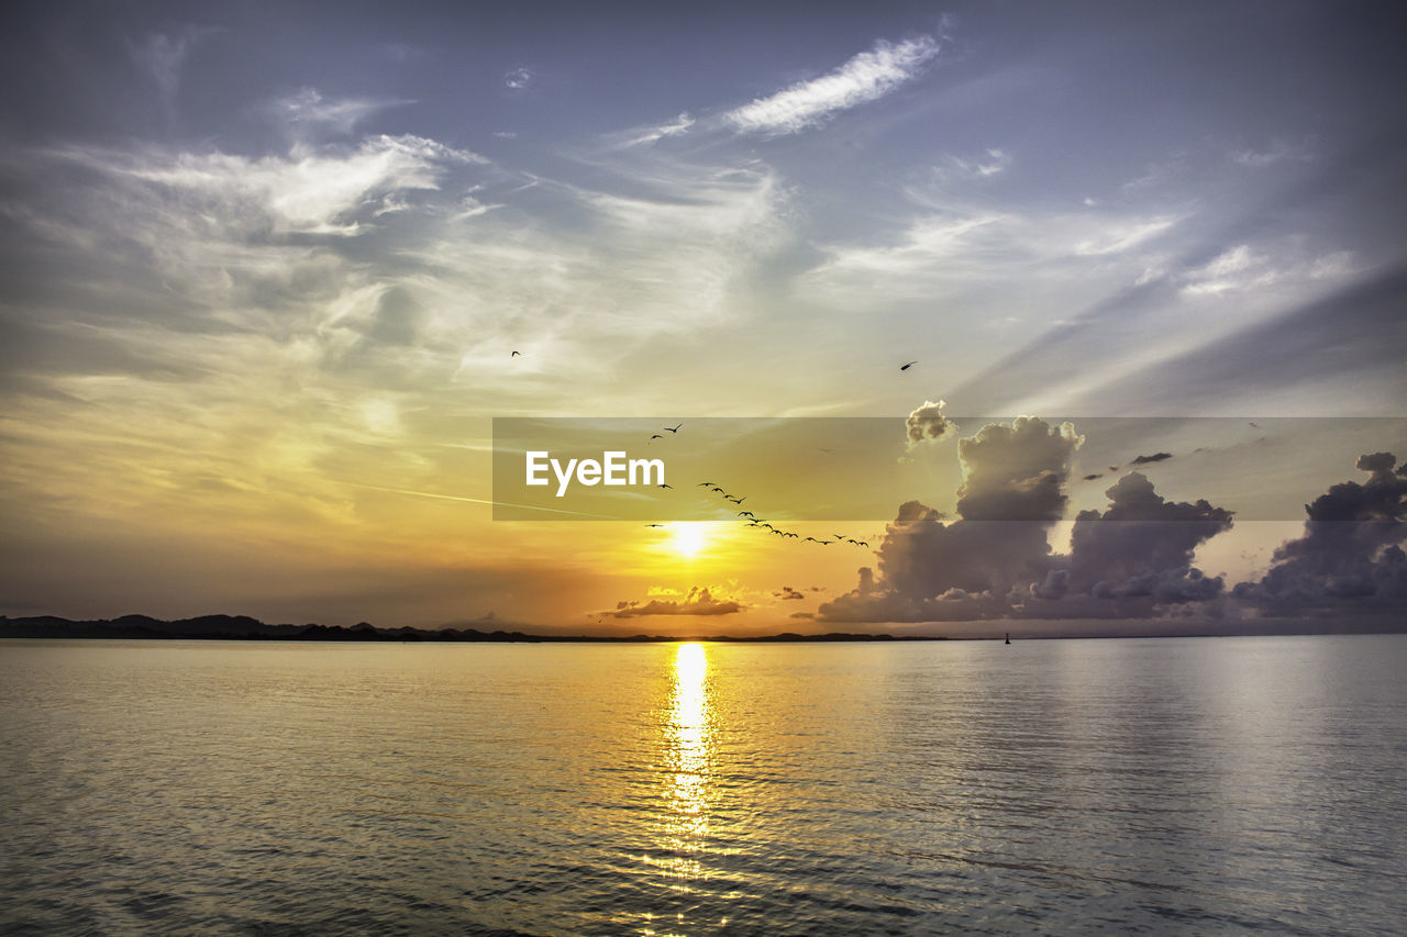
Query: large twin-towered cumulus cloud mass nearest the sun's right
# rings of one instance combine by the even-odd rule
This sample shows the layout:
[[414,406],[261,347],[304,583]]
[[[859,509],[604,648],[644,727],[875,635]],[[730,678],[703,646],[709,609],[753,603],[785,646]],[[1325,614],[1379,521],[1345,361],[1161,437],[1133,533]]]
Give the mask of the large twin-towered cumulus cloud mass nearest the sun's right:
[[1051,552],[1064,516],[1071,460],[1083,442],[1071,423],[1020,418],[989,423],[958,443],[960,518],[917,501],[899,508],[878,550],[878,575],[823,604],[846,622],[1168,615],[1220,599],[1224,582],[1192,566],[1197,546],[1231,526],[1206,501],[1171,502],[1142,474],[1106,492],[1107,511],[1075,522],[1069,554]]

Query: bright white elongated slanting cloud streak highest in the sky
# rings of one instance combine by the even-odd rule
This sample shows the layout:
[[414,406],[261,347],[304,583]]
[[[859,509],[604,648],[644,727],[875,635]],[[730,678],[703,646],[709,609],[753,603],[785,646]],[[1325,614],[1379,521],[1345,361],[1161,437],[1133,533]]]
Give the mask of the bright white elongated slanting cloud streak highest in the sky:
[[819,127],[840,111],[878,100],[910,82],[940,48],[938,39],[930,35],[898,45],[879,41],[839,69],[757,98],[729,111],[725,120],[740,132],[772,136]]

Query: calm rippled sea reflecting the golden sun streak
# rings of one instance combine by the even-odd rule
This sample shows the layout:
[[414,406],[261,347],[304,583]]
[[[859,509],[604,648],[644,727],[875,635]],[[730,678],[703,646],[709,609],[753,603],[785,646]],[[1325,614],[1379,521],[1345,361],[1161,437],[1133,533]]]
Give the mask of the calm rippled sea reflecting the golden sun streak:
[[0,642],[0,930],[1403,933],[1407,636]]

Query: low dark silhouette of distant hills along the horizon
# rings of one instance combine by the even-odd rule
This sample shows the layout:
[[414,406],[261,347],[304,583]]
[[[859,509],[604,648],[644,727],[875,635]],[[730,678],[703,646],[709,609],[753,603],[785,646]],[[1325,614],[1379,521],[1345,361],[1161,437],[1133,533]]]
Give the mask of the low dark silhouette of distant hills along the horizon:
[[591,635],[529,635],[525,632],[481,632],[476,627],[376,627],[359,622],[352,627],[340,625],[266,625],[248,615],[201,615],[163,622],[146,615],[124,615],[113,619],[73,622],[66,618],[41,615],[37,618],[0,616],[0,637],[48,639],[218,639],[218,640],[286,640],[286,642],[522,642],[522,643],[639,643],[639,642],[909,642],[944,640],[941,637],[895,637],[892,635],[768,635],[763,637],[733,637],[729,635],[698,637],[667,637],[664,635],[630,635],[602,637]]

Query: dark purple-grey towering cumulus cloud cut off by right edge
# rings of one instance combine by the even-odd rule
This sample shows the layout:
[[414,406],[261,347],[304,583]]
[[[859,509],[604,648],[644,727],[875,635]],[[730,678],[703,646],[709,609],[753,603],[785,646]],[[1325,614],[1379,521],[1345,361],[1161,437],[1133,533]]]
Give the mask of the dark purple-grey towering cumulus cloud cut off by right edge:
[[1266,615],[1387,612],[1407,608],[1407,464],[1361,456],[1368,481],[1345,481],[1304,505],[1304,533],[1282,543],[1259,582],[1235,597]]

